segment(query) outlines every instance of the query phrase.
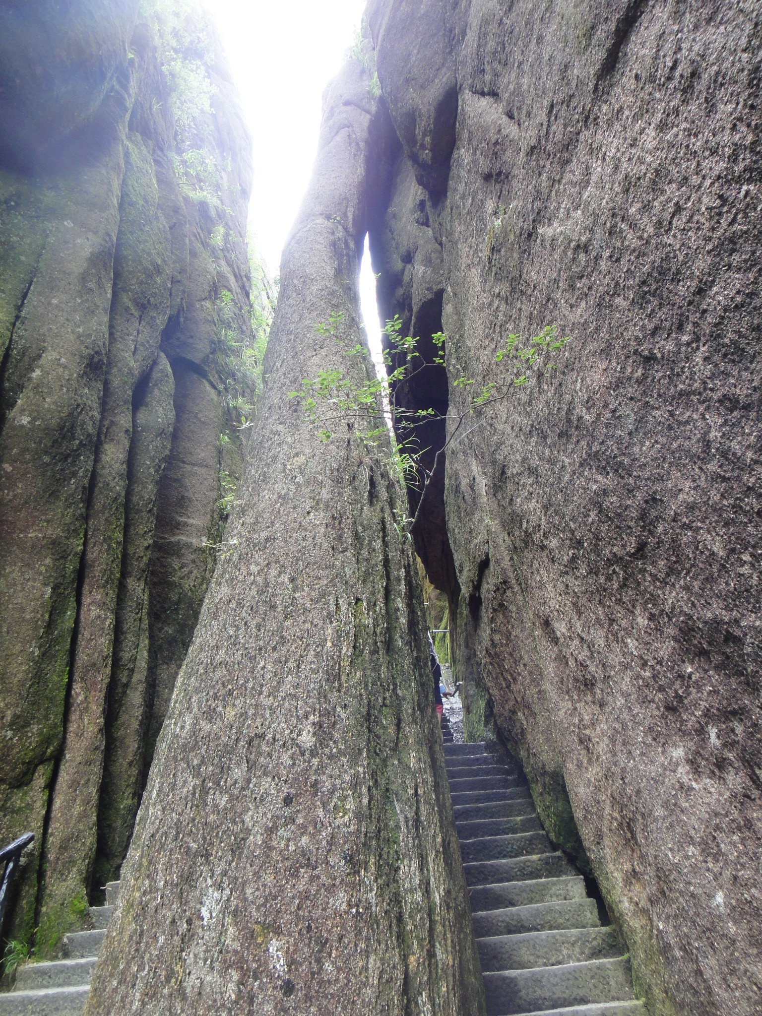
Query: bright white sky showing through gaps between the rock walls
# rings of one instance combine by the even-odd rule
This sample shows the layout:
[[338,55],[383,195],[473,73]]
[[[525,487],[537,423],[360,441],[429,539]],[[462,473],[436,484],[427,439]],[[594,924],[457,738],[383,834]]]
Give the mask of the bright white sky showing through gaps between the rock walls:
[[[204,2],[216,21],[254,141],[250,229],[275,274],[312,170],[323,89],[355,41],[365,0]],[[367,256],[363,267],[363,313],[374,339],[378,312]]]

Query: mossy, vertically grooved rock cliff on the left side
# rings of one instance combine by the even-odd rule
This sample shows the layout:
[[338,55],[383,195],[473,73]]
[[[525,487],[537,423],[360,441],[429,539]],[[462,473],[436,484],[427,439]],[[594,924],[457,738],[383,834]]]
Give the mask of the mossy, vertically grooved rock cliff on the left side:
[[[150,660],[173,634],[152,619],[180,594],[149,590],[152,561],[190,605],[182,654],[220,470],[240,470],[220,336],[250,331],[249,141],[208,25],[183,17],[178,34],[130,0],[0,13],[0,841],[36,833],[8,933],[38,926],[42,954],[83,919],[99,841],[105,881],[129,840],[161,723]],[[188,47],[204,102],[176,80]],[[189,487],[188,533],[154,545],[157,506],[176,516]]]

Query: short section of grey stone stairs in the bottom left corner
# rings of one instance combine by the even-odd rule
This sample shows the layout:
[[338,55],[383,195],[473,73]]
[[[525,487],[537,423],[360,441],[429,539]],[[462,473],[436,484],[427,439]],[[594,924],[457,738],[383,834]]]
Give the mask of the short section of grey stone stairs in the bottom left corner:
[[81,1016],[118,890],[110,882],[106,906],[89,908],[91,930],[63,938],[62,959],[17,967],[13,990],[0,994],[0,1016]]

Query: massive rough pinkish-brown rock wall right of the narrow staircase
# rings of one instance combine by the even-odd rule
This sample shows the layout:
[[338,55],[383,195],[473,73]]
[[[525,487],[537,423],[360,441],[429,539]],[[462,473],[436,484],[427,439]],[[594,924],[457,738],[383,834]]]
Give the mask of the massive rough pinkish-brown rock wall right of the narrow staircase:
[[[556,376],[448,452],[466,726],[494,716],[554,838],[586,851],[651,1013],[751,1016],[762,10],[374,0],[369,14],[442,246],[450,378],[499,380],[509,332],[558,322],[572,338]],[[444,140],[435,154],[447,111],[451,154]],[[392,294],[387,255],[411,229],[396,200],[372,238]],[[451,387],[450,428],[464,408]]]

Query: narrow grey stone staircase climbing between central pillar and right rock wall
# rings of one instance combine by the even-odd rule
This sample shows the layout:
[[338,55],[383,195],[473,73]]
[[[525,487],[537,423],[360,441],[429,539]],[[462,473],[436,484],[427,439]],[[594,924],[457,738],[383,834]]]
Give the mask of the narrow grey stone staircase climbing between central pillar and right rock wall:
[[483,744],[444,753],[488,1016],[647,1016],[614,929],[543,831],[516,766]]

